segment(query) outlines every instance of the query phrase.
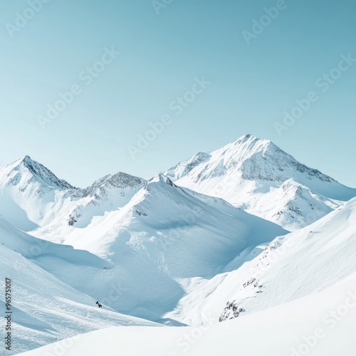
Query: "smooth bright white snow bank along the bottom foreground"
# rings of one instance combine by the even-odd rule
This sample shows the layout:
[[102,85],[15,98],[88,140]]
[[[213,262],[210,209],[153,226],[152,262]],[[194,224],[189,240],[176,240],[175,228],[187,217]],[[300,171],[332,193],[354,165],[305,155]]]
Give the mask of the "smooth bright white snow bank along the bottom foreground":
[[351,356],[355,354],[355,285],[354,274],[321,293],[224,323],[108,328],[21,355],[57,351],[68,356]]

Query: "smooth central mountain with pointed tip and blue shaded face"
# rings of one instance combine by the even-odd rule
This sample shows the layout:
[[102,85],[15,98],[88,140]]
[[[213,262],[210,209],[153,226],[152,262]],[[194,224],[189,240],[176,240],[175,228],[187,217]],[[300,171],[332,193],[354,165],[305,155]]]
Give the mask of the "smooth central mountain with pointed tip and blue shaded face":
[[[287,232],[222,199],[177,187],[162,174],[121,209],[94,216],[88,226],[64,221],[63,226],[34,233],[56,241],[55,231],[65,236],[65,244],[111,265],[94,286],[80,286],[83,293],[96,293],[122,313],[162,322],[168,321],[162,315],[174,309],[194,278],[211,278],[241,251]],[[61,270],[53,273],[69,285],[80,284]],[[110,299],[113,282],[119,296]],[[201,315],[195,321],[200,323]]]

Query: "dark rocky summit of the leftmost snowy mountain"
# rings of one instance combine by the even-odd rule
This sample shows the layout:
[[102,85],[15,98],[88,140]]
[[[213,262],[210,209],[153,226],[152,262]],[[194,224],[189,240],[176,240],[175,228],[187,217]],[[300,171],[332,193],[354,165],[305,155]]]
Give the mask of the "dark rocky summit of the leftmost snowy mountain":
[[[18,159],[12,164],[9,164],[7,167],[11,171],[27,171],[34,178],[41,180],[43,184],[47,184],[49,187],[56,187],[58,189],[75,189],[71,184],[66,182],[64,179],[59,179],[56,177],[53,172],[51,172],[43,164],[34,161],[30,156],[26,155],[25,157]],[[11,172],[10,171],[10,172]]]

